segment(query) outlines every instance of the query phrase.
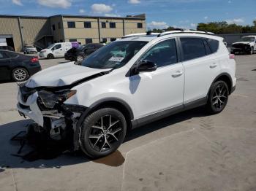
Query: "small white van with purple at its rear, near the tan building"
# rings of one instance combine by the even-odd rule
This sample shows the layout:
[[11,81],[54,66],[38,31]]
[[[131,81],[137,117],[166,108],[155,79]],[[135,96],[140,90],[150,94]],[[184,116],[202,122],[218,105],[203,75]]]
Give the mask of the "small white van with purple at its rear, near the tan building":
[[72,47],[78,47],[78,42],[59,42],[51,44],[39,53],[40,58],[64,58],[65,53]]

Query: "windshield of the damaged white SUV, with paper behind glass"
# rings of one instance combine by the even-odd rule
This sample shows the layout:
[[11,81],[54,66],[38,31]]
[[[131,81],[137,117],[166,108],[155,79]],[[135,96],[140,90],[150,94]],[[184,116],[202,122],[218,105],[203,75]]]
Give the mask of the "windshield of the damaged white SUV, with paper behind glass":
[[148,42],[111,42],[83,60],[82,66],[94,69],[112,69],[124,66]]

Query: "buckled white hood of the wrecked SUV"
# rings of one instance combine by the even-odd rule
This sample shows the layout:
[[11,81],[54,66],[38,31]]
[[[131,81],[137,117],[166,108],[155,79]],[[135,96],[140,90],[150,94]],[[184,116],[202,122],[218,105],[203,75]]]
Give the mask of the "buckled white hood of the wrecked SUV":
[[62,63],[34,74],[27,82],[26,87],[58,87],[71,85],[80,79],[99,74],[110,69],[92,69],[75,65],[74,62]]

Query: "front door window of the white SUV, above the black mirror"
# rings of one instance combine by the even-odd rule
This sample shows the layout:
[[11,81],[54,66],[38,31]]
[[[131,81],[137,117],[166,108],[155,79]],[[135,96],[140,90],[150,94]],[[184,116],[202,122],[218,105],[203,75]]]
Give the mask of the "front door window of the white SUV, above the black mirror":
[[151,61],[157,64],[157,67],[168,66],[178,62],[175,39],[168,39],[152,47],[141,61]]

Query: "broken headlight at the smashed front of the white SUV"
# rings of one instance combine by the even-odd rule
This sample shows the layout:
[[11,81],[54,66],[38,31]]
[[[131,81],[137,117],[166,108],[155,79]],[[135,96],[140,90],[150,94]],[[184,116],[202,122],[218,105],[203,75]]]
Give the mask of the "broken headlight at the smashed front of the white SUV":
[[41,90],[38,92],[38,95],[46,107],[53,108],[56,104],[63,103],[68,98],[71,98],[75,93],[77,93],[76,90],[61,90],[55,93]]

